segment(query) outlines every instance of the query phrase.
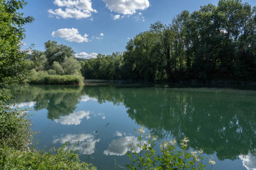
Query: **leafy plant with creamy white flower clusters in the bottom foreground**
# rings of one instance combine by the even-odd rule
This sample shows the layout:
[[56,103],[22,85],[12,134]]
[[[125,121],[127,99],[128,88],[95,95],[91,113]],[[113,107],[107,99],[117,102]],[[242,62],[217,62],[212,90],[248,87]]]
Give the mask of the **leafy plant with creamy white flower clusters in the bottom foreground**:
[[[156,136],[146,135],[148,141],[142,140],[142,134],[144,133],[143,127],[139,128],[138,132],[138,142],[139,152],[134,150],[134,146],[130,145],[130,152],[127,152],[130,164],[126,166],[129,170],[205,170],[205,165],[202,164],[204,157],[202,156],[203,150],[193,151],[191,153],[187,152],[188,138],[184,137],[180,141],[180,147],[182,151],[175,151],[177,141],[173,139],[171,141],[160,144],[161,156],[156,156],[156,151],[154,150]],[[200,153],[200,155],[197,155]],[[213,158],[212,158],[213,159]],[[215,165],[215,161],[209,160],[211,166]],[[137,168],[136,168],[137,166]],[[212,168],[213,170],[213,168]]]

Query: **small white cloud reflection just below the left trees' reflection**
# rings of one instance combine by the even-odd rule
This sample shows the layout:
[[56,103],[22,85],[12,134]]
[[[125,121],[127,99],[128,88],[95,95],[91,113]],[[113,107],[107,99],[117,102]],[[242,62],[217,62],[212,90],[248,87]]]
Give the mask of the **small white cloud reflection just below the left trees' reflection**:
[[67,116],[61,116],[59,119],[56,119],[55,122],[59,122],[62,125],[79,125],[84,117],[89,120],[91,118],[89,115],[89,111],[74,112]]

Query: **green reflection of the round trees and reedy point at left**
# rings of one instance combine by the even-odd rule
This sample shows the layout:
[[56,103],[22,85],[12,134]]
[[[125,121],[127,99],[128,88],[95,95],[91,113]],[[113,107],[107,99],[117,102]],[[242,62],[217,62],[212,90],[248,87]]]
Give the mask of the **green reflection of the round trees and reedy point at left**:
[[36,101],[34,110],[48,110],[47,117],[51,120],[59,119],[60,116],[69,115],[76,109],[79,97],[82,95],[82,86],[29,86],[18,88],[17,92],[22,95],[11,103]]

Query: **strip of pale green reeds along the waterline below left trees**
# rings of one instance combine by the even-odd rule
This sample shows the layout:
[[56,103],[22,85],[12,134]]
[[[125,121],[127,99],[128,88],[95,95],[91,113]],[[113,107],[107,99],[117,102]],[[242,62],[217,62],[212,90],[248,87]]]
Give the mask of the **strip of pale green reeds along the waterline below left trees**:
[[80,75],[49,75],[47,72],[33,72],[28,83],[38,85],[79,85],[84,81]]

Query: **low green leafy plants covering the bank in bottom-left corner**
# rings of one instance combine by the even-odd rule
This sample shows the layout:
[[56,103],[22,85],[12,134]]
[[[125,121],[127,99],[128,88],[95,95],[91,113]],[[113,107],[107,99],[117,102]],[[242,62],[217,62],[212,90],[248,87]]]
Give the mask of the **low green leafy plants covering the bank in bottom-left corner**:
[[81,162],[73,151],[65,150],[66,145],[49,152],[0,148],[0,166],[4,170],[96,170],[91,164]]

